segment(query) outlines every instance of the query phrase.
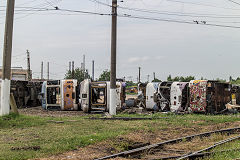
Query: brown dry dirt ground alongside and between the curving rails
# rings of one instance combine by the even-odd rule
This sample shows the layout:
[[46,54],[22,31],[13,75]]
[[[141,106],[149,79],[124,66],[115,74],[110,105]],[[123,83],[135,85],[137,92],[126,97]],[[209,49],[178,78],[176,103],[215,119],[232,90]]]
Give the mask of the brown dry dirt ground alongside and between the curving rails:
[[[107,155],[111,155],[114,153],[121,152],[117,147],[119,144],[123,144],[126,142],[128,144],[155,144],[159,142],[163,142],[166,140],[179,138],[187,135],[197,134],[206,131],[213,131],[224,128],[232,128],[239,127],[240,122],[233,123],[222,123],[214,126],[194,126],[191,128],[167,128],[162,129],[158,132],[133,132],[127,135],[118,136],[115,139],[107,140],[104,142],[99,142],[94,145],[90,145],[84,148],[79,148],[74,151],[66,152],[59,155],[54,155],[48,158],[42,158],[38,160],[92,160],[100,157],[104,157]],[[184,142],[183,144],[176,145],[166,145],[164,148],[161,148],[158,151],[155,151],[153,155],[145,155],[142,156],[141,159],[155,159],[156,157],[166,157],[166,156],[176,156],[181,155],[183,153],[189,153],[190,151],[195,151],[198,149],[205,148],[209,145],[213,145],[216,141],[229,138],[226,135],[213,135],[210,138],[196,138],[192,142]],[[202,143],[204,141],[204,143]],[[196,145],[198,144],[198,145]],[[128,146],[129,147],[129,146]],[[130,145],[131,147],[131,145]],[[168,151],[168,152],[166,152]],[[159,156],[160,155],[160,156]],[[139,157],[138,157],[139,158]],[[138,159],[136,158],[136,159]],[[124,160],[125,158],[115,158],[115,160]],[[127,158],[128,160],[131,158]],[[134,159],[134,158],[132,158]]]

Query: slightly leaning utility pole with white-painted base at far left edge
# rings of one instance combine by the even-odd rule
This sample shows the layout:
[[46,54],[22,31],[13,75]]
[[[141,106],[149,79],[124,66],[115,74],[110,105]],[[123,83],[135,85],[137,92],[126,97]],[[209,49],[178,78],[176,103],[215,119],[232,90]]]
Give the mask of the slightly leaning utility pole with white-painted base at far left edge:
[[12,61],[14,5],[15,0],[7,1],[4,48],[3,48],[0,116],[7,115],[10,112],[10,83],[11,83],[10,78]]

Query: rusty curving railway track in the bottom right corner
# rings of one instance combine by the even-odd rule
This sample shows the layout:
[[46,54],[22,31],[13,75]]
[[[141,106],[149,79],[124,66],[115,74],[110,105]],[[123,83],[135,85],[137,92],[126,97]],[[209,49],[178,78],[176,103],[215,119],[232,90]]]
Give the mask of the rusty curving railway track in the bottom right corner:
[[[171,140],[156,143],[156,144],[150,144],[150,145],[147,145],[147,146],[144,146],[144,147],[139,147],[139,148],[136,148],[136,149],[116,153],[116,154],[101,157],[101,158],[97,158],[95,160],[105,160],[105,159],[112,159],[112,158],[116,158],[116,157],[136,157],[136,156],[138,156],[138,158],[139,158],[139,156],[144,155],[144,154],[153,154],[154,150],[159,150],[164,145],[169,145],[169,144],[172,145],[172,144],[180,143],[182,141],[184,141],[184,142],[191,141],[192,139],[197,138],[197,137],[200,137],[200,138],[209,137],[212,134],[217,134],[217,133],[221,133],[221,134],[227,133],[228,135],[231,135],[231,134],[234,134],[238,131],[240,131],[240,127],[215,130],[215,131],[204,132],[204,133],[200,133],[200,134],[194,134],[194,135],[185,136],[185,137],[181,137],[181,138],[177,138],[177,139],[171,139]],[[237,139],[240,139],[240,135],[235,136],[235,137],[231,137],[231,138],[228,138],[228,139],[225,139],[225,140],[222,140],[222,141],[219,141],[212,146],[209,146],[205,149],[202,149],[202,150],[199,150],[199,151],[196,151],[196,152],[193,152],[193,153],[192,152],[191,153],[182,153],[181,156],[175,156],[175,157],[171,156],[171,157],[157,158],[157,159],[159,159],[159,160],[160,159],[164,159],[164,160],[166,160],[166,159],[179,159],[179,160],[182,160],[182,159],[188,159],[188,158],[194,159],[194,157],[198,158],[198,155],[199,156],[203,155],[203,154],[201,154],[203,152],[209,151],[210,149],[213,149],[213,148],[215,148],[219,145],[222,145],[222,144],[225,144],[227,142],[234,141],[234,140],[237,140]]]

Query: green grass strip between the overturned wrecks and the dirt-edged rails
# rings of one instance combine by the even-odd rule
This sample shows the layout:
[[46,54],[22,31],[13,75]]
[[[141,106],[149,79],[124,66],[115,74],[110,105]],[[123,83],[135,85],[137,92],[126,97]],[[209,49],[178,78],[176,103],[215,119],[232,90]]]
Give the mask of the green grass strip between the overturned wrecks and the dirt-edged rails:
[[[31,159],[48,157],[114,139],[136,131],[157,132],[171,127],[214,125],[239,121],[239,115],[118,115],[118,117],[153,117],[141,121],[90,120],[88,116],[37,117],[11,114],[0,117],[0,159]],[[167,119],[158,119],[167,117]],[[53,121],[64,121],[54,123]],[[127,144],[119,144],[124,148]],[[13,148],[40,146],[39,150],[12,150]]]

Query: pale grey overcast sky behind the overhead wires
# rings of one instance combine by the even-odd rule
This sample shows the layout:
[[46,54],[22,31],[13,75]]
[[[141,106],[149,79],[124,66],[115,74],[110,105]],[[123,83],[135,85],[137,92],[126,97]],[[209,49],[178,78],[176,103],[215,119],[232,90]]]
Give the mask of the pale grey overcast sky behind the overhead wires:
[[[111,4],[111,0],[98,0]],[[240,0],[235,0],[240,3]],[[206,24],[240,27],[240,5],[228,0],[123,0],[118,1],[117,77],[166,80],[168,75],[207,79],[236,78],[240,67],[240,28],[216,27],[153,20],[206,21]],[[20,7],[111,13],[95,0],[16,0],[12,67],[26,68],[26,50],[31,54],[33,77],[40,77],[44,62],[50,63],[50,78],[62,79],[69,61],[86,68],[95,77],[110,68],[111,17],[63,11],[32,11]],[[0,4],[0,51],[3,51],[6,0]],[[121,8],[125,7],[125,9]],[[128,8],[128,9],[126,9]],[[130,8],[130,9],[129,9]],[[135,10],[133,10],[135,8]],[[139,12],[144,9],[149,12]],[[153,13],[154,12],[154,13]],[[162,14],[164,13],[164,14]],[[170,14],[169,14],[170,13]],[[173,15],[174,13],[174,15]],[[176,14],[179,14],[178,16]],[[183,16],[191,15],[191,16]],[[152,20],[135,19],[133,16]],[[2,64],[2,56],[0,57]]]

